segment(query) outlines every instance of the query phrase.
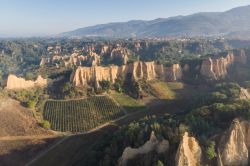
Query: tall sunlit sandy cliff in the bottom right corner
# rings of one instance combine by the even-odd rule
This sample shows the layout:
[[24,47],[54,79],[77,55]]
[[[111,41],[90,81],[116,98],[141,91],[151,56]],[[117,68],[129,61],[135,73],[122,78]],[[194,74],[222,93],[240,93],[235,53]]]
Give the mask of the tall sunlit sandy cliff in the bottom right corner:
[[249,128],[248,122],[240,122],[238,119],[233,121],[229,131],[221,138],[218,164],[224,166],[248,165]]

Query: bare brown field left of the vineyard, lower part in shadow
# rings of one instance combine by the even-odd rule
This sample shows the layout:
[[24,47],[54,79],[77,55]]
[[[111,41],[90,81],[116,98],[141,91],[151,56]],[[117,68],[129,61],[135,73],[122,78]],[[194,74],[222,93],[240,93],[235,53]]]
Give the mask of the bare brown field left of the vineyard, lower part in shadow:
[[32,110],[10,98],[0,99],[0,165],[22,166],[59,138],[41,128]]

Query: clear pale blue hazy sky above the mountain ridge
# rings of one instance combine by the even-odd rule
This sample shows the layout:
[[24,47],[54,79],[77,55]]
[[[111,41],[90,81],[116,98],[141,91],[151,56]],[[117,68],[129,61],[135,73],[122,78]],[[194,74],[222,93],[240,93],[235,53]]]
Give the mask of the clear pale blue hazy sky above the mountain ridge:
[[58,34],[128,20],[225,11],[250,0],[0,0],[0,35]]

